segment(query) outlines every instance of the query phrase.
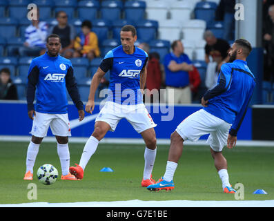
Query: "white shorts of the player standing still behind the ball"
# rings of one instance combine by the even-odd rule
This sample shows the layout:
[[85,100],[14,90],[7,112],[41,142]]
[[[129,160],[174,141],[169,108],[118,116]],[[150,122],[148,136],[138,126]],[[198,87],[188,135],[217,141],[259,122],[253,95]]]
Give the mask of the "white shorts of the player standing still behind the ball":
[[52,131],[53,135],[60,137],[71,136],[70,122],[68,120],[68,114],[50,114],[39,113],[36,111],[36,117],[32,122],[31,135],[35,137],[46,137],[48,133],[48,127]]

